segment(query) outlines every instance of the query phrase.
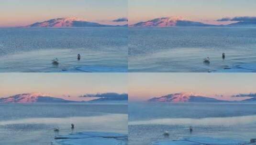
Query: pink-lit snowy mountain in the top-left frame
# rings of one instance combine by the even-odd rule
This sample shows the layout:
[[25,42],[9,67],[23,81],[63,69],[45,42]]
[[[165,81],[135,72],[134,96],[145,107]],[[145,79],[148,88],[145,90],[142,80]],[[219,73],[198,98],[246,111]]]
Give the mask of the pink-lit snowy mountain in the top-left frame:
[[96,22],[89,22],[83,19],[79,19],[76,17],[67,17],[67,18],[56,18],[43,22],[36,22],[31,25],[27,25],[24,27],[121,27],[120,25],[104,25]]

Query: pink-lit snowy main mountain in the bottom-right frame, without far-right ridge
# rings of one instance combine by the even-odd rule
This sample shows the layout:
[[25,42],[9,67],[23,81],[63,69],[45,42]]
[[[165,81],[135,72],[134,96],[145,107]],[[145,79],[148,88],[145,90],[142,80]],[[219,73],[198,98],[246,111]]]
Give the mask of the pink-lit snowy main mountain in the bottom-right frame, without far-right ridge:
[[196,93],[172,93],[149,99],[148,102],[158,103],[185,103],[185,102],[223,102],[214,98],[205,97]]

